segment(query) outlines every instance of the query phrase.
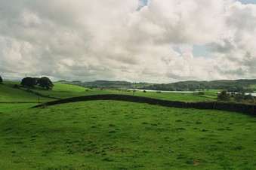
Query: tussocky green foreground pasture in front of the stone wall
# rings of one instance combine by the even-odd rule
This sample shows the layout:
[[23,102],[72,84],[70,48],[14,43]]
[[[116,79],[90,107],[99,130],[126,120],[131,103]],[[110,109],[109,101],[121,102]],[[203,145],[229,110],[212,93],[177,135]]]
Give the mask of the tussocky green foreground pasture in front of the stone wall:
[[256,120],[93,101],[0,114],[0,169],[254,169]]

